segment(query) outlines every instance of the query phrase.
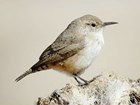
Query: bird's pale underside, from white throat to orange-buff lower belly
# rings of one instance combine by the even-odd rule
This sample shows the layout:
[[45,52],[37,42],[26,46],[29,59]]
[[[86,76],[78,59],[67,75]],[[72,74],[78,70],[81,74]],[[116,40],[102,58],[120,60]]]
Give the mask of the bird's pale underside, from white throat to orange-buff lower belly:
[[57,65],[52,65],[53,69],[67,72],[69,74],[78,74],[88,68],[95,57],[100,52],[104,44],[102,30],[93,32],[85,37],[85,48],[77,54],[67,58]]

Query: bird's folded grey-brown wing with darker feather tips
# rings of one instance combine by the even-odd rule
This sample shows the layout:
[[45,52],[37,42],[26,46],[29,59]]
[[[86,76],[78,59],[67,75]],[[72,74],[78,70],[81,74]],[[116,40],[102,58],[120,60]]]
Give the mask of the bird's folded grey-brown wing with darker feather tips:
[[39,67],[43,64],[51,64],[63,61],[84,48],[83,41],[78,43],[64,44],[62,46],[50,45],[40,56],[39,61],[33,67]]

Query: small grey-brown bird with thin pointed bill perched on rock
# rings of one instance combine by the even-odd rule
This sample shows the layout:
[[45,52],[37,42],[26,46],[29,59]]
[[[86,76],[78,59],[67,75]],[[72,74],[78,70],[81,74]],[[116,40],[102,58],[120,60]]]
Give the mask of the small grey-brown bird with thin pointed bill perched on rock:
[[38,71],[54,69],[66,72],[77,80],[104,44],[103,28],[117,22],[102,22],[92,15],[85,15],[72,21],[57,39],[41,54],[39,61],[16,81]]

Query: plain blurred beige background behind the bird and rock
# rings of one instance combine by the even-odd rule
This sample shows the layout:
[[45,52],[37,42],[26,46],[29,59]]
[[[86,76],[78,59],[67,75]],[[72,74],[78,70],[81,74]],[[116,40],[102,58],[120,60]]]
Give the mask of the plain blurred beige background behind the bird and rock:
[[140,0],[0,0],[0,104],[34,105],[72,77],[54,70],[14,80],[38,61],[40,54],[67,25],[92,14],[118,25],[104,30],[105,46],[81,76],[102,72],[140,77]]

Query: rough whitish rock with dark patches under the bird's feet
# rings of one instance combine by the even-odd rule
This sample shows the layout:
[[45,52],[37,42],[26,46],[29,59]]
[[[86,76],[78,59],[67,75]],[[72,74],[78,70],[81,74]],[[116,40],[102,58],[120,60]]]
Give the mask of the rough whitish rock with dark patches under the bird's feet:
[[37,105],[140,105],[140,79],[122,78],[106,73],[86,86],[67,84]]

